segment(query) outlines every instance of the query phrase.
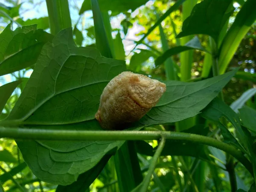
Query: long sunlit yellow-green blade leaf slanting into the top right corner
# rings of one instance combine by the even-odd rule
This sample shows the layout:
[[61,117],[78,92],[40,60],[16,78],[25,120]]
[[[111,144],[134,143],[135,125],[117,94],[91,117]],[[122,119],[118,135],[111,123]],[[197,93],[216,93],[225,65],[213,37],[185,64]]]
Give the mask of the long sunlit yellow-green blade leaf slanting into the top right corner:
[[221,48],[219,49],[219,73],[225,73],[228,64],[236,52],[244,35],[249,31],[251,25],[256,20],[255,0],[247,0],[242,6],[236,19],[227,34],[225,35]]

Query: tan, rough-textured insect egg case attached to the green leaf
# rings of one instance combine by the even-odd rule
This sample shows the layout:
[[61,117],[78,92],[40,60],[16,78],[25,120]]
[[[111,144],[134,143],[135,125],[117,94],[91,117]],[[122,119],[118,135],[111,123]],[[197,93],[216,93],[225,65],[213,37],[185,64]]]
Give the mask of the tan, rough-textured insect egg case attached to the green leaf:
[[104,88],[95,114],[102,128],[123,129],[141,119],[159,101],[166,84],[147,76],[122,72]]

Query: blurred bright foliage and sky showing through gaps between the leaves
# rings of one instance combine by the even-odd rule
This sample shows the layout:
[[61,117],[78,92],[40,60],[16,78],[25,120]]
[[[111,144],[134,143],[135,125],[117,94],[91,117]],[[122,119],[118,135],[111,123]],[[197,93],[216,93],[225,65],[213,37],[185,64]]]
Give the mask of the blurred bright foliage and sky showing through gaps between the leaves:
[[[87,0],[85,0],[87,1]],[[89,1],[90,2],[90,1]],[[114,2],[107,1],[109,5],[113,6]],[[114,39],[114,46],[119,50],[118,58],[125,59],[128,69],[134,70],[137,73],[145,73],[154,78],[166,79],[165,65],[155,66],[155,59],[164,52],[163,42],[161,40],[161,29],[156,27],[137,47],[134,49],[137,41],[148,32],[148,29],[153,26],[158,18],[162,16],[172,5],[175,0],[138,0],[134,6],[123,5],[122,12],[118,11],[121,6],[113,6],[111,11],[108,11],[111,20],[112,37]],[[198,1],[200,2],[200,1]],[[93,27],[92,12],[88,8],[82,6],[83,0],[69,0],[70,16],[73,26],[74,39],[78,46],[95,47],[95,32]],[[233,6],[235,11],[230,17],[228,27],[234,21],[234,17],[241,8],[243,0],[234,0]],[[132,3],[131,3],[132,4]],[[126,7],[125,7],[126,6]],[[81,7],[85,10],[81,11]],[[127,9],[125,9],[127,8]],[[90,7],[89,7],[90,9]],[[101,7],[104,9],[104,6]],[[105,7],[108,9],[108,7]],[[167,46],[169,48],[176,47],[181,44],[180,39],[175,36],[181,31],[183,18],[183,7],[172,12],[161,23],[163,33],[166,37]],[[110,10],[110,9],[109,9]],[[81,15],[79,15],[79,13]],[[38,28],[49,32],[49,20],[45,0],[1,0],[0,1],[0,32],[5,27],[12,23],[12,30],[22,25],[38,24]],[[209,45],[209,38],[206,35],[198,36],[203,47],[207,48]],[[191,79],[186,81],[197,81],[205,79],[202,77],[202,70],[205,61],[205,52],[198,50],[192,51],[192,70]],[[172,61],[177,71],[177,80],[180,79],[180,54],[174,55]],[[233,67],[241,67],[239,73],[227,84],[223,90],[224,101],[230,105],[238,99],[246,90],[255,87],[256,82],[256,23],[253,24],[247,35],[241,41],[230,65],[227,70]],[[21,70],[10,75],[0,76],[0,85],[10,81],[23,80],[18,86],[11,98],[8,100],[0,119],[3,119],[13,108],[18,96],[26,85],[26,81],[32,73],[32,67]],[[209,76],[212,76],[210,70]],[[256,108],[255,97],[247,101],[247,105]],[[165,125],[166,130],[175,131],[175,125]],[[209,124],[209,129],[214,132],[216,127],[214,124]],[[230,129],[232,129],[230,125]],[[216,136],[218,137],[218,136]],[[148,141],[148,143],[155,147],[156,141]],[[215,157],[218,157],[219,162],[225,162],[225,155],[221,151],[214,148],[211,149]],[[148,169],[148,160],[151,157],[139,154],[140,165],[143,174],[145,175]],[[169,162],[169,163],[166,163]],[[157,191],[173,191],[180,190],[179,185],[184,187],[184,191],[194,191],[192,189],[192,182],[184,183],[184,180],[179,180],[180,177],[191,174],[194,180],[198,179],[198,175],[193,175],[195,169],[198,168],[200,160],[192,159],[189,165],[180,157],[163,156],[160,157],[157,164],[155,175],[151,180],[150,189],[152,192]],[[165,163],[165,164],[163,164]],[[205,169],[202,169],[202,166]],[[216,175],[212,175],[210,165],[203,163],[201,179],[204,180],[204,191],[218,191],[215,188],[215,183],[218,183],[220,191],[229,192],[230,183],[227,172],[221,168],[215,171]],[[115,170],[113,168],[113,161],[109,161],[107,166],[103,169],[99,177],[90,186],[90,191],[111,192],[118,191],[118,184],[116,180]],[[221,167],[221,163],[220,163]],[[211,171],[211,172],[210,172]],[[250,174],[238,163],[236,166],[238,187],[247,190],[253,182]],[[56,186],[44,183],[38,180],[35,175],[25,165],[17,145],[14,140],[0,139],[0,181],[5,191],[55,191]],[[164,189],[163,189],[164,188]],[[200,188],[201,189],[201,188]],[[1,188],[0,188],[1,191]]]

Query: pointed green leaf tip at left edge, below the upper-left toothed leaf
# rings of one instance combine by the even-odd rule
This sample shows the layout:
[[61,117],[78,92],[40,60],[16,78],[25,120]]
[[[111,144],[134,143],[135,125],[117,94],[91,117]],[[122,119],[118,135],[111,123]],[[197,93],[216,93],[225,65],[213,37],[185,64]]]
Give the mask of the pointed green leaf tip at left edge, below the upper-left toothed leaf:
[[0,115],[6,105],[7,100],[12,95],[12,92],[20,84],[20,81],[13,81],[11,83],[4,84],[0,87]]

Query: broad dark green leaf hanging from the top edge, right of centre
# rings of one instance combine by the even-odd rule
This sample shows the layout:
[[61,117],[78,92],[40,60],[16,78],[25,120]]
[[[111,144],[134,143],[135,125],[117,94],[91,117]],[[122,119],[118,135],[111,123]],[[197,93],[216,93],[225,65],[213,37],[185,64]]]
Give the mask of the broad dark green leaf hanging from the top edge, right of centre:
[[204,34],[211,36],[218,43],[218,35],[233,12],[229,8],[231,3],[232,0],[204,0],[198,3],[183,22],[182,32],[177,38]]

